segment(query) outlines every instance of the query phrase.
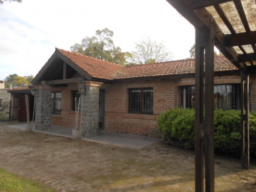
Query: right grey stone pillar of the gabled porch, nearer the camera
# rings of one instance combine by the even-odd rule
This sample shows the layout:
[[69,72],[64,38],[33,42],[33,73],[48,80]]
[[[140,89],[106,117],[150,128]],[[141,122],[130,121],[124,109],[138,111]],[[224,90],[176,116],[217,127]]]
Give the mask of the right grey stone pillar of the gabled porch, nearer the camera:
[[95,137],[99,132],[99,88],[102,82],[86,81],[86,95],[82,96],[82,129],[86,137]]

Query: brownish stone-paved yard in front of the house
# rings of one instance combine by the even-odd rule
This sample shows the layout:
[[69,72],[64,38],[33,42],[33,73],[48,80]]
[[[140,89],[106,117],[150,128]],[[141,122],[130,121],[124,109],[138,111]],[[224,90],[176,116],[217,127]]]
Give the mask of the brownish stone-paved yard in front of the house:
[[[161,142],[141,150],[6,128],[0,167],[56,191],[195,191],[194,153]],[[215,191],[256,191],[256,166],[216,158]]]

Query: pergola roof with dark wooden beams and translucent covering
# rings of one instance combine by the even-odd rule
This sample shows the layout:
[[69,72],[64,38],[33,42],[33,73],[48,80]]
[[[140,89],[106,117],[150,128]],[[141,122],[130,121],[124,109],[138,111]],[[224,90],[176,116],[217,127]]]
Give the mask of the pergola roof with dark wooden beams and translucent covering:
[[215,46],[240,70],[256,73],[256,1],[166,1],[199,30],[215,23]]

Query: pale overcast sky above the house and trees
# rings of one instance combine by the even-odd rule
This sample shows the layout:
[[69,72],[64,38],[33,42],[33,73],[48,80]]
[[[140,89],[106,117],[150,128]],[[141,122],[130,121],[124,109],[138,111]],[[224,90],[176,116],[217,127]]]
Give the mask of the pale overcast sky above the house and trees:
[[195,28],[165,0],[23,0],[0,5],[0,80],[35,76],[55,48],[70,51],[96,30],[134,51],[141,39],[162,42],[173,60],[189,57]]

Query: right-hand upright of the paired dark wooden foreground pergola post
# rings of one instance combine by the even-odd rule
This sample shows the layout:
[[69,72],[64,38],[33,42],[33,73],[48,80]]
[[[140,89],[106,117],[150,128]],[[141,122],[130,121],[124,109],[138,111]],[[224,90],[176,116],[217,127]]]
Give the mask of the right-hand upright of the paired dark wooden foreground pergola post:
[[205,39],[205,191],[213,192],[214,163],[214,39],[215,23],[211,22]]

